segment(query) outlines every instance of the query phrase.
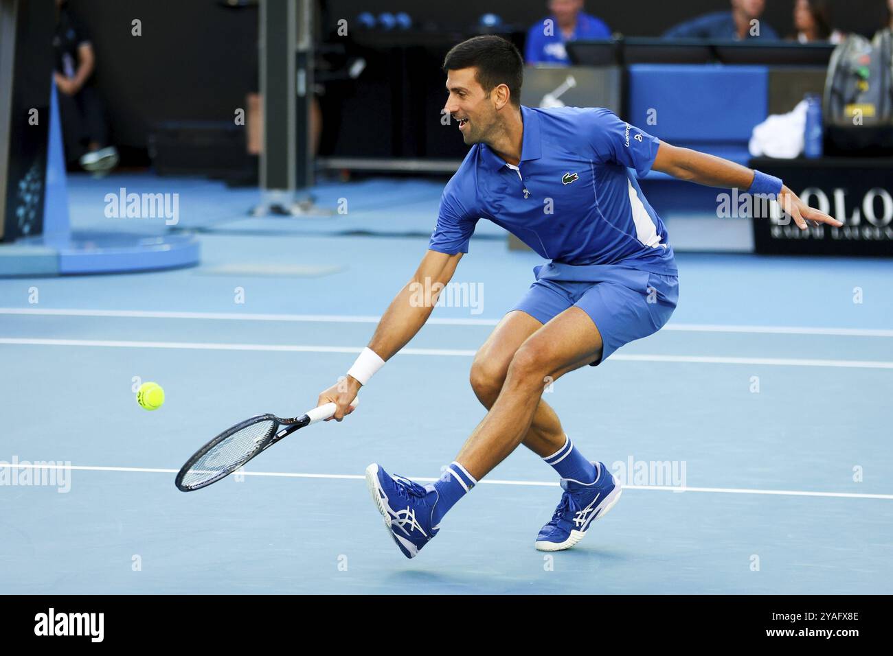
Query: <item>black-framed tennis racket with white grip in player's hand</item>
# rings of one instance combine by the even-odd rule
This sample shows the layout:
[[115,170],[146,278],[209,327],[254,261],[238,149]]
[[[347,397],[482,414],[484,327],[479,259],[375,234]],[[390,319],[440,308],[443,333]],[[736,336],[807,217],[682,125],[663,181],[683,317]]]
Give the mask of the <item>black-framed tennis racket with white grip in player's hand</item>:
[[[358,401],[359,399],[354,399],[350,404],[351,407],[356,407]],[[192,492],[210,486],[221,478],[230,476],[247,461],[263,453],[283,437],[291,435],[298,428],[329,419],[337,408],[335,403],[324,403],[292,419],[259,414],[240,421],[196,451],[180,468],[174,483],[181,492]]]

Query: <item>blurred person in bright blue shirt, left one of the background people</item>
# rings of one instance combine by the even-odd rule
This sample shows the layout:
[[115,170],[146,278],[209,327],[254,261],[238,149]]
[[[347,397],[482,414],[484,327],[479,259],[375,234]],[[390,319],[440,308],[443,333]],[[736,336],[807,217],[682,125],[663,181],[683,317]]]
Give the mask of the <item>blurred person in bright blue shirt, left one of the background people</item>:
[[530,28],[527,63],[569,64],[564,43],[579,38],[611,38],[605,21],[583,13],[583,0],[549,0],[551,15]]

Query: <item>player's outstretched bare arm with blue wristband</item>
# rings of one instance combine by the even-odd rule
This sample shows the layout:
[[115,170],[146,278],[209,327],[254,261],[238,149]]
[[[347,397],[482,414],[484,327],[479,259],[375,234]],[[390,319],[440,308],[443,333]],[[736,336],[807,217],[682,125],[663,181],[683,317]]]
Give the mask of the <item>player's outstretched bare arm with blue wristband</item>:
[[[722,157],[698,153],[696,150],[680,148],[663,141],[657,149],[652,169],[672,175],[673,178],[697,182],[707,187],[738,188],[750,193],[765,193],[762,187],[759,189],[754,187],[761,186],[763,180],[760,179],[760,176],[770,179],[769,176],[735,162],[724,160]],[[833,219],[828,214],[819,212],[801,201],[797,194],[784,185],[781,185],[778,201],[781,209],[788,212],[794,223],[797,224],[797,228],[801,230],[806,229],[807,220],[814,226],[820,223],[836,227],[843,225],[839,220]]]

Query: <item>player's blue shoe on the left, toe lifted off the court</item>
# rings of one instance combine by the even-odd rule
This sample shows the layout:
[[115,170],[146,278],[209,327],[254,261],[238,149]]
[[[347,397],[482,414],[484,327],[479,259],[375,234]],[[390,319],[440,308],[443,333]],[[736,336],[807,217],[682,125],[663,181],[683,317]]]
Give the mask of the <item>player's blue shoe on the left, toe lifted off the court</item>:
[[431,526],[440,496],[437,490],[388,474],[374,462],[366,468],[366,486],[400,551],[406,558],[415,558],[438,534],[439,527]]

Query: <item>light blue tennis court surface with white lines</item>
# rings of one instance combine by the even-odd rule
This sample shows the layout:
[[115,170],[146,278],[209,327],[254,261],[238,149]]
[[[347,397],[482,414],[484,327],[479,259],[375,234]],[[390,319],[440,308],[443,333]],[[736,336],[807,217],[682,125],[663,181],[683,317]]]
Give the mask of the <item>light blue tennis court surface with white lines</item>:
[[[472,355],[540,259],[481,222],[454,278],[474,303],[438,307],[351,417],[182,494],[176,471],[216,432],[306,411],[344,374],[424,252],[442,187],[330,182],[318,200],[348,198],[346,216],[252,220],[256,191],[163,185],[182,198],[176,229],[198,231],[198,267],[0,279],[3,592],[893,588],[888,262],[678,253],[671,323],[547,392],[575,443],[624,477],[613,512],[576,548],[535,551],[560,489],[521,447],[407,561],[363,469],[430,480],[454,458],[485,413]],[[72,224],[89,227],[108,180],[69,187]],[[138,406],[138,380],[164,387],[163,408]]]

